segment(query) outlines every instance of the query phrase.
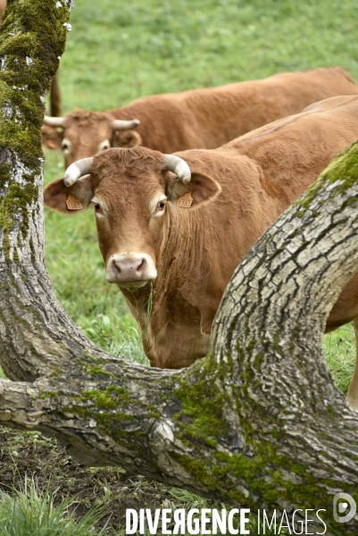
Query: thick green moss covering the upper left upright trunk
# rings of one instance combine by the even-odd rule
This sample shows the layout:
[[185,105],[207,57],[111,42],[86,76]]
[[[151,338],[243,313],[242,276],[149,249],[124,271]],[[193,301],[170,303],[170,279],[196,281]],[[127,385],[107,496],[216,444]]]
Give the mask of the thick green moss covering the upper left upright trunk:
[[[0,226],[26,237],[41,175],[42,96],[64,50],[70,11],[62,0],[9,0],[0,29]],[[11,163],[10,163],[11,162]],[[21,175],[21,183],[12,166]],[[9,241],[4,237],[5,253]]]

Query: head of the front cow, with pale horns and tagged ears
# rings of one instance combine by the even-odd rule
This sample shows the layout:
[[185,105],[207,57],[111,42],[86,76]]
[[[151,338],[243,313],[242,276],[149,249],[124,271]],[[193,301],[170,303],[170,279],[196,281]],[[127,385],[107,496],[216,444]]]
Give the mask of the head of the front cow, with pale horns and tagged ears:
[[216,180],[190,172],[178,156],[145,147],[113,148],[71,164],[63,180],[45,188],[44,201],[65,214],[91,205],[107,281],[136,289],[157,276],[172,211],[196,210],[220,191]]

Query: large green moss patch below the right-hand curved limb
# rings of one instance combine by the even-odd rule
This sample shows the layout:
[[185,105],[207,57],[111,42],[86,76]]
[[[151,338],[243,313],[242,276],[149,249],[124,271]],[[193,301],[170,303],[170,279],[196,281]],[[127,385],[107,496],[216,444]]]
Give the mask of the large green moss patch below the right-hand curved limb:
[[[246,351],[254,352],[253,340],[248,347]],[[245,363],[244,357],[240,361]],[[252,356],[250,366],[259,370],[261,364],[262,356]],[[358,492],[351,485],[336,482],[334,466],[331,478],[317,479],[311,466],[280,454],[279,445],[285,434],[283,423],[277,416],[270,418],[261,406],[253,407],[253,400],[248,397],[247,386],[253,387],[252,368],[241,371],[241,381],[229,397],[224,380],[229,381],[231,372],[230,356],[226,356],[225,363],[221,362],[219,370],[214,358],[208,356],[194,364],[190,375],[181,380],[181,386],[173,392],[173,398],[180,404],[174,422],[179,428],[177,437],[190,447],[190,454],[171,451],[171,456],[212,495],[222,497],[218,490],[225,490],[228,500],[236,505],[254,508],[262,504],[274,509],[287,501],[302,508],[320,507],[331,512],[333,496],[322,493],[322,489],[334,490],[337,485],[358,500]],[[250,400],[248,413],[246,400]],[[235,429],[229,423],[228,404],[237,415],[237,429],[243,434],[244,445],[239,453],[224,447],[232,444]],[[267,440],[261,437],[261,419],[266,427],[271,421]],[[339,532],[339,523],[331,520],[331,526],[337,534],[343,534]]]

